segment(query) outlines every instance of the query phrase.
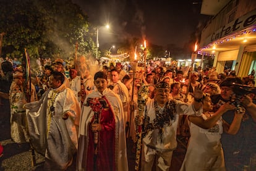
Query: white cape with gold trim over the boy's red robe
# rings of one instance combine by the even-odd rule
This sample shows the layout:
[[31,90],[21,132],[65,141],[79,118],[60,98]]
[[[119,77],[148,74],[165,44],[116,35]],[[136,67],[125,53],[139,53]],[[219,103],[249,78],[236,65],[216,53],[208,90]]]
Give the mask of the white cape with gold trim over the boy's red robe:
[[[116,157],[116,170],[128,170],[127,162],[127,151],[126,151],[126,132],[125,132],[125,122],[124,122],[124,111],[122,108],[122,101],[120,98],[110,89],[105,89],[103,94],[98,92],[98,90],[93,90],[87,98],[103,97],[105,96],[113,109],[115,116],[115,157]],[[85,100],[86,103],[87,99]],[[92,121],[94,112],[90,106],[82,107],[82,113],[80,118],[79,127],[79,149],[77,152],[77,170],[86,169],[87,161],[87,147],[88,147],[88,125]]]

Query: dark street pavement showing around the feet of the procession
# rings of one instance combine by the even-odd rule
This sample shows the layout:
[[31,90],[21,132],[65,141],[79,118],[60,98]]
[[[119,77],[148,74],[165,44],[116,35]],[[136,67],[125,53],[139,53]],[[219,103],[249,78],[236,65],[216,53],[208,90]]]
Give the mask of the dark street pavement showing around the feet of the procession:
[[[0,158],[0,171],[15,170],[43,170],[44,157],[35,152],[36,163],[32,167],[32,151],[29,143],[17,145],[11,140],[10,135],[10,107],[9,100],[1,100],[0,105],[0,143],[4,146],[3,156]],[[134,170],[135,153],[132,153],[132,141],[127,139],[127,156],[129,162],[129,170]],[[178,147],[173,153],[172,166],[170,170],[179,170],[186,153],[186,148],[181,141],[178,141]],[[75,158],[68,171],[75,170]],[[154,167],[153,169],[154,170]]]

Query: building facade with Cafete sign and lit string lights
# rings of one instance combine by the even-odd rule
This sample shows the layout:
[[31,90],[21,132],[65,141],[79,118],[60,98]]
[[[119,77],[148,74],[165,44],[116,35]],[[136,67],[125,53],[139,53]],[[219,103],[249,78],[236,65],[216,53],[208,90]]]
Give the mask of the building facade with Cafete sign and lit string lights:
[[201,14],[213,17],[202,31],[198,54],[215,55],[218,73],[228,63],[239,77],[256,70],[256,1],[203,0]]

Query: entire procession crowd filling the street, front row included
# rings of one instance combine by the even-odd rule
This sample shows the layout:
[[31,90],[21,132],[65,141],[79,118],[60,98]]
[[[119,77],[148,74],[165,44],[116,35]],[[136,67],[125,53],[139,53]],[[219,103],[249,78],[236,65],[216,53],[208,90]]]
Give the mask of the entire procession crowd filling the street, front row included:
[[[127,150],[140,150],[141,170],[169,170],[177,135],[188,140],[181,170],[241,170],[256,155],[255,72],[238,78],[200,66],[123,70],[119,62],[92,71],[91,64],[84,56],[69,68],[61,58],[38,62],[40,74],[32,72],[28,81],[19,64],[1,63],[0,99],[10,101],[11,138],[45,156],[45,170],[66,170],[72,162],[77,170],[134,170]],[[141,117],[143,86],[148,98]]]

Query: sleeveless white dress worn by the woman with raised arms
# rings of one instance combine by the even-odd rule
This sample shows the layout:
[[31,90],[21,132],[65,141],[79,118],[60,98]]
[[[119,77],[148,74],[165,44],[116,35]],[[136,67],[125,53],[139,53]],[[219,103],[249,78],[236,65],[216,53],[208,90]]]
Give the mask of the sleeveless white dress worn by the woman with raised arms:
[[[207,119],[205,114],[202,114],[202,117]],[[226,170],[220,141],[221,133],[221,118],[211,129],[202,129],[190,122],[191,137],[181,170]]]

